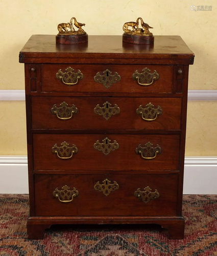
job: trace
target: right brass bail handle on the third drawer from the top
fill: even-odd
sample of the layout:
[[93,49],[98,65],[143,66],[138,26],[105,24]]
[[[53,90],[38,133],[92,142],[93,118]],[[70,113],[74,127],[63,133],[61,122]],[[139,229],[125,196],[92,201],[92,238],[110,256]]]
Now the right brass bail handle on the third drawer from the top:
[[143,147],[141,144],[136,147],[136,153],[140,154],[143,159],[147,160],[154,159],[157,154],[161,153],[161,151],[162,150],[158,144],[156,147],[153,147],[151,142],[147,142]]

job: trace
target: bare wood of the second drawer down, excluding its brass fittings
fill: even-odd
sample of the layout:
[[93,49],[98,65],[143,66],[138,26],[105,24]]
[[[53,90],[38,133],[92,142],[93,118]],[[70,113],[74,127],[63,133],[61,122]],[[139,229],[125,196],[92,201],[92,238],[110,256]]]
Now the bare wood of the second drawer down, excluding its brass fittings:
[[[62,102],[73,104],[78,112],[68,120],[61,120],[51,113],[54,104]],[[94,113],[99,104],[109,102],[117,104],[120,113],[108,120]],[[33,129],[61,130],[179,130],[181,121],[181,98],[128,98],[128,97],[32,97]],[[146,108],[151,102],[155,108],[159,105],[162,115],[154,121],[142,120],[136,113],[139,105]]]

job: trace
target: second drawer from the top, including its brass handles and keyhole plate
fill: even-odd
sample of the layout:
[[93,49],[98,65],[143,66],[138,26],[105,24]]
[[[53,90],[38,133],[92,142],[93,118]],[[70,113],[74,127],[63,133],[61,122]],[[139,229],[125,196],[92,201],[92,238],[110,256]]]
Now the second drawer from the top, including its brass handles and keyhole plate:
[[32,120],[33,129],[178,130],[181,98],[32,97]]

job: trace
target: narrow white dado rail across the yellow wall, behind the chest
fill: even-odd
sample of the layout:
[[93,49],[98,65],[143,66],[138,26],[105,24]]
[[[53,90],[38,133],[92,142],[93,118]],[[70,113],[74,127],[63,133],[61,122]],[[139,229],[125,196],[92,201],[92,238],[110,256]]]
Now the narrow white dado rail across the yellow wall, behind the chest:
[[[25,100],[25,91],[0,90],[0,100]],[[189,90],[188,100],[217,100],[217,90]]]

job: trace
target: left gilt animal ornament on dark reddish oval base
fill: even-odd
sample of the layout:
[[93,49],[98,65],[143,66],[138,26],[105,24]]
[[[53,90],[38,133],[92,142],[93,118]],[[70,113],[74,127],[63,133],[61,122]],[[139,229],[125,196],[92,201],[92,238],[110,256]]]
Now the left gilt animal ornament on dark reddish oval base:
[[[56,36],[57,44],[80,44],[88,41],[88,35],[83,30],[84,23],[77,22],[75,17],[68,23],[60,23],[57,26],[59,33]],[[76,30],[78,28],[78,30]]]

